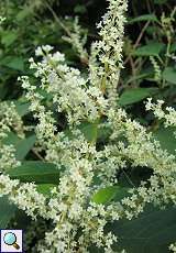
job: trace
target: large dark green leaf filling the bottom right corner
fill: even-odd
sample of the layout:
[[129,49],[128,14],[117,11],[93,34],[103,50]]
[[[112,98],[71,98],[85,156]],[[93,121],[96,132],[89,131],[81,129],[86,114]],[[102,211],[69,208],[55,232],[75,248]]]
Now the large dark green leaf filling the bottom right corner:
[[113,224],[118,235],[116,252],[125,249],[130,253],[166,253],[176,239],[176,209],[152,209],[138,219],[122,220]]

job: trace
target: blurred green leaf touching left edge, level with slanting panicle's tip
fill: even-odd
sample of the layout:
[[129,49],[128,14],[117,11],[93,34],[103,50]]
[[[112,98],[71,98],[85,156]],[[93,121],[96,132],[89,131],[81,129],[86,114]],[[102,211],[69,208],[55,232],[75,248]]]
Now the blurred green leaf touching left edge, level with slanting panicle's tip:
[[0,64],[15,70],[24,70],[24,59],[22,57],[7,56],[0,61]]

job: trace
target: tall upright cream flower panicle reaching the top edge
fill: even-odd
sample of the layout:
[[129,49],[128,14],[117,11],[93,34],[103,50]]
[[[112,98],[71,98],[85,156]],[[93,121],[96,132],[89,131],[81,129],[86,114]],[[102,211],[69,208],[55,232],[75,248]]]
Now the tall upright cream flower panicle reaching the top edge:
[[[127,0],[109,0],[108,12],[98,24],[100,41],[92,45],[89,68],[90,80],[105,91],[108,90],[110,105],[117,105],[117,86],[122,68],[122,48],[124,34],[124,13]],[[98,59],[98,63],[96,61]]]

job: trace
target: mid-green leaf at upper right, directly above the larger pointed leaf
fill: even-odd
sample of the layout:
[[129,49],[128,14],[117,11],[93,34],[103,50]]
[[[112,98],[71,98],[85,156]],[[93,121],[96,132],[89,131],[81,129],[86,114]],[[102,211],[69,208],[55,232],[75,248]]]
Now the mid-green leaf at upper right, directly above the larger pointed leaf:
[[141,46],[133,52],[135,56],[157,56],[164,48],[163,43],[150,42],[147,45]]

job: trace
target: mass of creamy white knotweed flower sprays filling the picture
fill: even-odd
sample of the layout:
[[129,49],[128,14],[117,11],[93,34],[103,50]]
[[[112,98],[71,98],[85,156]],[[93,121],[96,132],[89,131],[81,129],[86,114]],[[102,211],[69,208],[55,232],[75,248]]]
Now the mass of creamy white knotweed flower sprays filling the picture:
[[[41,193],[35,182],[11,178],[21,162],[15,158],[14,146],[3,144],[3,140],[12,130],[24,139],[28,127],[13,103],[2,102],[0,107],[0,196],[7,195],[34,220],[29,233],[41,218],[50,223],[33,252],[119,252],[116,245],[120,235],[109,224],[138,217],[148,204],[176,205],[175,156],[162,150],[152,133],[118,106],[128,3],[108,2],[108,11],[98,24],[100,40],[91,45],[89,56],[78,32],[69,38],[78,43],[80,55],[87,56],[87,76],[69,66],[64,54],[53,53],[54,48],[45,45],[35,52],[38,61],[30,59],[37,85],[28,76],[19,78],[33,116],[37,157],[59,172],[47,194]],[[166,128],[176,125],[175,110],[165,111],[163,103],[148,100],[146,110],[164,120]],[[65,124],[59,122],[61,117]],[[98,145],[105,129],[109,133],[107,141]],[[117,174],[129,163],[131,167],[148,167],[153,170],[151,177],[132,187],[121,200],[110,196],[110,201],[105,201],[103,194],[116,190]]]

